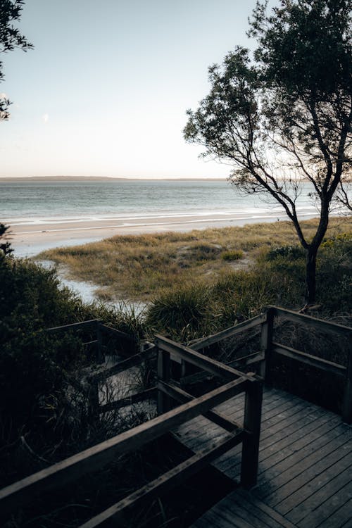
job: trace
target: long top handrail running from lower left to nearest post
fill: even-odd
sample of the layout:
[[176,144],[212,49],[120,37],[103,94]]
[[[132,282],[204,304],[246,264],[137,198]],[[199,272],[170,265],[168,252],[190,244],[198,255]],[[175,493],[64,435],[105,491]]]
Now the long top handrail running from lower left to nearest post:
[[237,393],[239,385],[246,386],[248,379],[240,377],[230,383],[222,385],[196,400],[184,403],[174,410],[149,420],[130,431],[101,442],[77,455],[66,458],[46,469],[22,479],[0,490],[0,506],[4,513],[12,508],[20,508],[29,503],[35,494],[58,488],[68,482],[94,472],[107,465],[115,455],[128,453],[143,446],[147,442],[157,439],[173,427],[187,422],[199,414],[206,413],[211,408]]

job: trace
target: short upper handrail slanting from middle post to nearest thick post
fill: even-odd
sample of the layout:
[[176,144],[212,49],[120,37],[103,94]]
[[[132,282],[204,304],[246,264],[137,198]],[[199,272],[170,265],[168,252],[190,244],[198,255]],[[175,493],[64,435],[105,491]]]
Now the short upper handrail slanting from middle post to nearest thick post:
[[227,365],[220,363],[220,361],[216,361],[214,359],[208,358],[207,356],[203,356],[203,354],[196,352],[187,346],[175,343],[174,341],[171,341],[171,339],[167,339],[166,337],[163,337],[158,334],[156,335],[156,346],[158,346],[158,348],[161,348],[165,352],[177,354],[178,356],[180,356],[180,358],[187,360],[192,365],[196,365],[196,367],[199,367],[203,370],[207,370],[215,376],[222,377],[225,379],[234,379],[234,377],[245,377],[250,381],[253,380],[253,375],[251,374],[247,375],[244,374],[244,372],[241,372],[240,370],[236,370],[232,367],[227,367]]

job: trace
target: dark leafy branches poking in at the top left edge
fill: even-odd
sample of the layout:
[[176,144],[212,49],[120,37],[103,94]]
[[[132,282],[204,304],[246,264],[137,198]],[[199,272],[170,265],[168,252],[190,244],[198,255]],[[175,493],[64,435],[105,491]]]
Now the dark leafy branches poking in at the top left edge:
[[[23,0],[0,0],[0,53],[21,48],[23,51],[32,49],[32,44],[13,26],[13,21],[19,20],[23,8]],[[4,80],[3,64],[0,61],[0,82]],[[8,119],[8,106],[11,102],[4,94],[0,96],[0,120]]]

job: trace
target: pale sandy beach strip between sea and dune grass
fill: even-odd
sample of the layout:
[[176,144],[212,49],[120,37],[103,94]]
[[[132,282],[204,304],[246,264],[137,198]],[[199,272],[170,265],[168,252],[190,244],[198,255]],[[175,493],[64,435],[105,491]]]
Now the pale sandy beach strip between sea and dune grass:
[[32,257],[44,251],[60,246],[75,246],[87,244],[118,234],[141,234],[168,231],[190,231],[206,229],[207,227],[227,227],[245,225],[253,222],[274,222],[286,220],[285,215],[253,217],[238,213],[211,215],[165,215],[164,217],[149,216],[145,218],[128,219],[100,219],[100,220],[67,220],[55,223],[37,223],[34,225],[11,226],[11,246],[15,256]]

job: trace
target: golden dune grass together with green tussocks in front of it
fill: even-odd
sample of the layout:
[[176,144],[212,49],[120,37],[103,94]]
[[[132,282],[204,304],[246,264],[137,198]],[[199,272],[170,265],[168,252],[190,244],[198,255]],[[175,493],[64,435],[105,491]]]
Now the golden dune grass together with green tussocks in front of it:
[[[302,223],[308,239],[316,225],[317,220]],[[317,301],[327,315],[348,310],[345,302],[337,301],[332,285],[339,274],[345,277],[339,289],[343,301],[350,233],[351,218],[332,218],[318,253]],[[96,284],[102,301],[149,303],[146,327],[171,332],[177,339],[233,325],[266,304],[304,304],[305,255],[290,222],[117,236],[49,250],[39,258],[64,265],[70,277]]]

